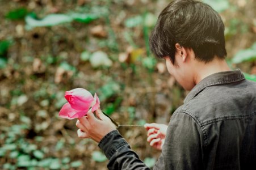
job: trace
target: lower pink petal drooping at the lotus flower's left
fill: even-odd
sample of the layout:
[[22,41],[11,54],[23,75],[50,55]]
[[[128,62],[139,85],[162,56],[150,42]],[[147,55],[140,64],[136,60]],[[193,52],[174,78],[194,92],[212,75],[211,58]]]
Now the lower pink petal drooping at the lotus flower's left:
[[58,116],[62,118],[68,118],[69,120],[74,118],[80,118],[87,114],[88,110],[85,111],[77,111],[71,107],[69,103],[66,103],[63,105],[63,107],[60,110],[60,113],[58,113]]

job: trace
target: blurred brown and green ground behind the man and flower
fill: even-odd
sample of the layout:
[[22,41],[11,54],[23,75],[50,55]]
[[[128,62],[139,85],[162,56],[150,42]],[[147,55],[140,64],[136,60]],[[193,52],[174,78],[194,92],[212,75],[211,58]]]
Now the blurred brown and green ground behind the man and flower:
[[[82,87],[120,124],[167,124],[188,94],[149,50],[166,0],[0,0],[0,169],[107,169],[76,120],[58,117]],[[255,0],[205,0],[225,23],[227,61],[256,81]],[[119,128],[152,167],[144,128]]]

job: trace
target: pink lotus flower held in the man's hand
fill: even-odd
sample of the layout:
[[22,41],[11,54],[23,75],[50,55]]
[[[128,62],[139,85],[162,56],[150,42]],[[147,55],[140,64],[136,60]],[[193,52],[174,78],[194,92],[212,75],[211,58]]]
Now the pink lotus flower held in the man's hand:
[[90,108],[92,112],[96,111],[100,104],[96,93],[93,97],[89,91],[83,88],[66,91],[65,98],[68,100],[68,103],[63,105],[58,116],[70,120],[85,116]]

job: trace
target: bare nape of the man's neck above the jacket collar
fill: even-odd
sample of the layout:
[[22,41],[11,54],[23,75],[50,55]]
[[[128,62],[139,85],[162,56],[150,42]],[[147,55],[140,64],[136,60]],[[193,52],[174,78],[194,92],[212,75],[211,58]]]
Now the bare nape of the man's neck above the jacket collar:
[[230,71],[225,59],[215,58],[209,63],[197,62],[195,67],[194,82],[195,84],[198,84],[205,77],[222,71]]

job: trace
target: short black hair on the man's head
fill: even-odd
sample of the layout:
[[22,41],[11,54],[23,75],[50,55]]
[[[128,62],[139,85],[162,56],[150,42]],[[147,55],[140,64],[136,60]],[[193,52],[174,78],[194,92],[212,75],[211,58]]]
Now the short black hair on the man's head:
[[150,49],[159,58],[175,62],[175,44],[194,50],[205,63],[226,56],[224,23],[209,5],[194,0],[171,2],[160,14],[150,36]]

